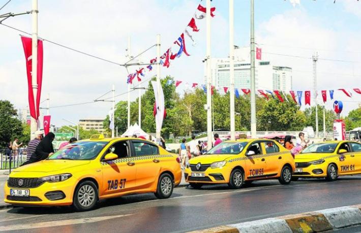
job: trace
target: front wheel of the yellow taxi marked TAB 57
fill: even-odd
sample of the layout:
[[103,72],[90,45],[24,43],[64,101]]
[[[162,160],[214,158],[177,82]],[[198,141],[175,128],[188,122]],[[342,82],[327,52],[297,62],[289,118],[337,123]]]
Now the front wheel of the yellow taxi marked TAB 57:
[[98,202],[98,188],[93,181],[83,181],[75,189],[73,207],[76,211],[93,209]]

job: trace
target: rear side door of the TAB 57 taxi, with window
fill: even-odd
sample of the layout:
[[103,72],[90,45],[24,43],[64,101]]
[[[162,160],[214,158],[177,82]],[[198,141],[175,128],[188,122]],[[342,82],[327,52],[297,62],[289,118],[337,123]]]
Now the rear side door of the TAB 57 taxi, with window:
[[136,158],[136,186],[138,189],[149,188],[158,182],[162,166],[157,145],[142,140],[132,140],[132,148]]

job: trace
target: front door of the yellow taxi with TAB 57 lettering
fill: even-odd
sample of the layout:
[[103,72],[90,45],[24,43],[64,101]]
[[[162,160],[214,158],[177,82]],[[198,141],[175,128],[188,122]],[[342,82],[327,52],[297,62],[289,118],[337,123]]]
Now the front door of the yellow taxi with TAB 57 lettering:
[[100,190],[100,195],[133,190],[135,187],[136,167],[130,156],[129,141],[123,140],[113,143],[103,157],[110,152],[118,155],[118,158],[112,161],[101,160],[103,190]]

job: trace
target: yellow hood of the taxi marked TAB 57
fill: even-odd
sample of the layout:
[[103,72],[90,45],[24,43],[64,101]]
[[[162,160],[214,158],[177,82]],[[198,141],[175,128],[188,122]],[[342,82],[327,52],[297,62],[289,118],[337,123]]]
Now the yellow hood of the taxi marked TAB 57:
[[64,160],[47,159],[39,162],[27,164],[15,169],[13,172],[56,172],[66,170],[90,163],[89,160]]

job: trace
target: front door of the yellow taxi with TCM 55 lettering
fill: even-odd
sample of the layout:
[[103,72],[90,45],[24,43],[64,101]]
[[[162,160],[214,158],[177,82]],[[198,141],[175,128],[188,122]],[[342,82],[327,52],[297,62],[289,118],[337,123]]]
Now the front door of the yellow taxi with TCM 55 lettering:
[[[250,151],[253,151],[255,154],[251,155]],[[254,142],[248,146],[246,151],[246,169],[245,169],[245,178],[246,179],[257,179],[265,176],[266,171],[266,161],[262,153],[262,147],[259,142]]]

